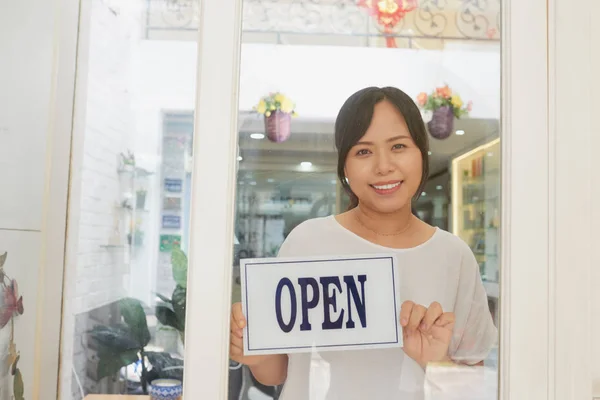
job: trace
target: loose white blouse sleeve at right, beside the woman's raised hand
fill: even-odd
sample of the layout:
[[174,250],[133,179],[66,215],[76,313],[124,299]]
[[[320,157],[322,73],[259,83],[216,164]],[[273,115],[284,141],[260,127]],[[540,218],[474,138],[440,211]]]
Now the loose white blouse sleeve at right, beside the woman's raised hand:
[[485,360],[498,341],[498,330],[492,320],[479,265],[466,245],[454,313],[456,323],[450,343],[450,357],[468,365]]

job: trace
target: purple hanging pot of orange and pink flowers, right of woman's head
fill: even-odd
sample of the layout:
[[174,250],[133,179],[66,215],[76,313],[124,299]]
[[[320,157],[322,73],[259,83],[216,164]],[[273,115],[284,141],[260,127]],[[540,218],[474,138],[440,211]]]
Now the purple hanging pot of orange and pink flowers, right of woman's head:
[[454,130],[454,118],[468,115],[473,108],[472,102],[464,106],[458,93],[452,93],[448,85],[436,88],[429,95],[419,93],[417,104],[422,110],[432,113],[427,128],[429,134],[436,139],[448,138]]

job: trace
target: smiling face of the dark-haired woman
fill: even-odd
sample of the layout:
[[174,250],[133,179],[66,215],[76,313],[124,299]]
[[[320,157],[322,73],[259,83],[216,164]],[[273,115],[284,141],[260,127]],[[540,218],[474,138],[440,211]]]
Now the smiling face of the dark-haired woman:
[[422,155],[388,101],[375,105],[371,125],[348,153],[345,173],[361,206],[381,213],[410,207],[421,184]]

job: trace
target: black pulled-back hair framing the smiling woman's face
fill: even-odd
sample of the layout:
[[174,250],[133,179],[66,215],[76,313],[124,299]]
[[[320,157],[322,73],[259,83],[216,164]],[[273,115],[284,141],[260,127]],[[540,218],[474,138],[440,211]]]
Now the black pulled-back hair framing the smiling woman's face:
[[358,205],[358,197],[350,189],[350,185],[346,182],[346,174],[344,172],[346,159],[350,149],[360,141],[365,135],[371,120],[373,118],[373,110],[377,103],[387,100],[402,114],[410,136],[416,146],[421,151],[423,160],[423,172],[421,175],[421,184],[415,193],[415,199],[419,198],[423,187],[429,176],[429,138],[425,123],[421,117],[419,107],[415,102],[404,93],[402,90],[395,87],[368,87],[350,96],[338,113],[335,120],[335,147],[338,152],[338,178],[342,183],[342,187],[350,196],[350,206],[352,209]]

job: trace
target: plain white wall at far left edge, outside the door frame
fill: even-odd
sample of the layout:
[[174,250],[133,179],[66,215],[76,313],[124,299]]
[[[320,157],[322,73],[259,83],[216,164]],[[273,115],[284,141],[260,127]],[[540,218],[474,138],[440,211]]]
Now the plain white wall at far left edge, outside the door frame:
[[[37,397],[40,379],[36,340],[45,299],[43,217],[55,21],[51,1],[0,2],[0,255],[8,253],[4,271],[18,282],[23,296],[25,312],[14,319],[14,338],[26,398]],[[4,366],[10,329],[9,323],[0,330],[2,400],[9,399],[13,389],[10,369]],[[47,371],[53,372],[55,368]]]

